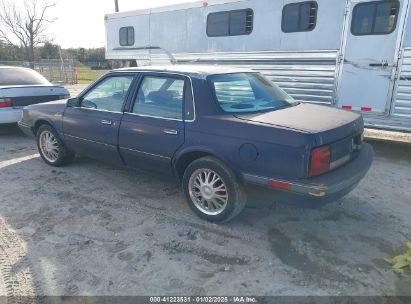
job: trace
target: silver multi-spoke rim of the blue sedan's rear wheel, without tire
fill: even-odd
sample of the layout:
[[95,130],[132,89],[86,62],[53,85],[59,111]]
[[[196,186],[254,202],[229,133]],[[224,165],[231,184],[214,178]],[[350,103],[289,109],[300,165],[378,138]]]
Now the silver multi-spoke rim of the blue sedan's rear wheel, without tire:
[[213,170],[198,169],[191,174],[189,183],[191,201],[202,213],[218,215],[228,203],[227,186]]

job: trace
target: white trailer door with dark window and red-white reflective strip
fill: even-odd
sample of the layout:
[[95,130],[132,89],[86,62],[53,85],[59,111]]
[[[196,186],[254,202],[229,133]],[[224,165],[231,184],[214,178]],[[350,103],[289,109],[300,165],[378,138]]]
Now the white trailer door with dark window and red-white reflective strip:
[[338,106],[388,113],[408,0],[350,2]]

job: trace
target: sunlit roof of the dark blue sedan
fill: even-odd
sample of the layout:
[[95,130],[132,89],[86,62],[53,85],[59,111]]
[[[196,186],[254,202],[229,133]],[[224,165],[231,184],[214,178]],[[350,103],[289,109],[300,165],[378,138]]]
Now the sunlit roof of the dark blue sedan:
[[[130,67],[112,70],[111,72],[162,72],[162,73],[174,73],[183,74],[194,78],[205,79],[209,75],[217,74],[232,74],[232,73],[246,73],[253,72],[250,69],[242,69],[231,66],[221,65],[167,65],[167,66],[143,66],[143,67]],[[255,71],[254,71],[255,72]]]

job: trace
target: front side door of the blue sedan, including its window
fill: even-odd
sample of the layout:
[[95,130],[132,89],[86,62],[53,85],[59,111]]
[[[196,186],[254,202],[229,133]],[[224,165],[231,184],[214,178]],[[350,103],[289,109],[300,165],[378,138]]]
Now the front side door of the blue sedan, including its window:
[[70,149],[84,156],[122,162],[118,130],[133,80],[133,74],[108,75],[82,94],[77,105],[67,107],[63,134]]

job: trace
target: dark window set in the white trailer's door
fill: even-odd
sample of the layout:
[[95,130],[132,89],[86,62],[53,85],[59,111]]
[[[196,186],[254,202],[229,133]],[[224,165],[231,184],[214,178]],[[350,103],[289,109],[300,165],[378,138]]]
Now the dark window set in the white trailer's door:
[[384,35],[395,30],[400,3],[396,0],[357,4],[353,10],[353,35]]

